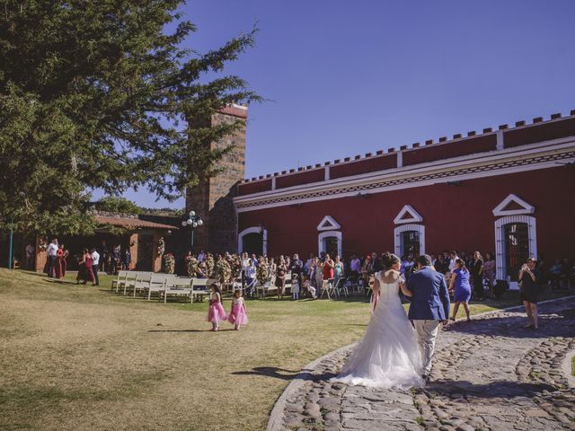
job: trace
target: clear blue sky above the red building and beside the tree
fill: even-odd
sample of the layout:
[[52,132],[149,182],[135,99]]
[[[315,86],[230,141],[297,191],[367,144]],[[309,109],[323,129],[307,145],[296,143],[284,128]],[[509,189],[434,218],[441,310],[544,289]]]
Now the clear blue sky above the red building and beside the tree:
[[200,51],[261,30],[227,69],[271,100],[250,107],[248,178],[575,109],[572,0],[190,0],[184,13]]

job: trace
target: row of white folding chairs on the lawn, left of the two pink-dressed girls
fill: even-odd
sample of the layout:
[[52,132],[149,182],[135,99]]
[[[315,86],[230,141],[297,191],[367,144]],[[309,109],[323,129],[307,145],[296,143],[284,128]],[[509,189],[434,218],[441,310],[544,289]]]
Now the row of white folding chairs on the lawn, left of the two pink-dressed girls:
[[203,301],[209,295],[208,286],[215,280],[205,278],[178,277],[173,274],[159,274],[149,271],[118,271],[118,277],[111,282],[111,290],[123,295],[141,295],[149,301],[152,295],[167,302],[168,296],[186,297],[193,303],[194,297]]

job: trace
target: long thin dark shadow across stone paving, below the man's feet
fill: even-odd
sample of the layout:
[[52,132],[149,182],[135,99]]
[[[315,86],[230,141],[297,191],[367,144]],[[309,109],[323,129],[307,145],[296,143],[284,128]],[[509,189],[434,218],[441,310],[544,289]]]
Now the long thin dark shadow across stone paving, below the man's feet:
[[471,383],[467,381],[437,380],[429,382],[425,391],[430,396],[446,396],[451,398],[534,398],[543,394],[544,391],[557,391],[557,388],[545,383],[518,383],[497,381],[490,383]]

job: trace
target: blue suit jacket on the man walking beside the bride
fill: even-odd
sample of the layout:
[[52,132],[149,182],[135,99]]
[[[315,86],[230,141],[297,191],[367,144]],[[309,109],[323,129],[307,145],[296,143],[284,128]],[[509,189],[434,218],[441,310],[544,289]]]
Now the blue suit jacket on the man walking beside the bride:
[[449,294],[446,279],[429,267],[411,274],[407,288],[411,291],[410,321],[447,321]]

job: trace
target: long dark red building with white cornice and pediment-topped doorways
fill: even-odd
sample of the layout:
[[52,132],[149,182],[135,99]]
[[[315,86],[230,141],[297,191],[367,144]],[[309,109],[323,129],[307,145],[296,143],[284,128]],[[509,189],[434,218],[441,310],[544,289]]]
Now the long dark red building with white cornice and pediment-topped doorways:
[[575,257],[575,110],[244,180],[238,251]]

